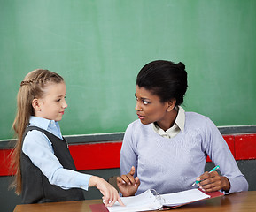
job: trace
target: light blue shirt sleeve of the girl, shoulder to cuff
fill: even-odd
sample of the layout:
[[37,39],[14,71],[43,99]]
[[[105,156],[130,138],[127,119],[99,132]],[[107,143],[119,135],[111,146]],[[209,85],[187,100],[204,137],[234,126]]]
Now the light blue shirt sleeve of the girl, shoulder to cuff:
[[42,132],[29,131],[24,139],[22,151],[49,179],[50,184],[63,189],[82,188],[88,190],[91,175],[64,169],[54,155],[50,140]]

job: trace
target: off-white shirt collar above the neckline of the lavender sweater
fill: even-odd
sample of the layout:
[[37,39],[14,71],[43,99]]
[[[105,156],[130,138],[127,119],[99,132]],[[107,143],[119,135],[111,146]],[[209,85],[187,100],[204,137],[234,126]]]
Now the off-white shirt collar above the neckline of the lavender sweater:
[[158,133],[160,136],[170,139],[174,138],[180,131],[184,131],[184,125],[185,125],[185,110],[182,109],[181,106],[178,106],[178,114],[175,119],[175,124],[171,126],[167,131],[164,131],[159,127],[159,125],[156,125],[153,123],[153,129],[156,133]]

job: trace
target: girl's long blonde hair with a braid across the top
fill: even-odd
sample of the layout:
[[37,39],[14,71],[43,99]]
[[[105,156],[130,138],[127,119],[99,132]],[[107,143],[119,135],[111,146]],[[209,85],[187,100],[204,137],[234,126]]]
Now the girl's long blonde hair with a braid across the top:
[[32,101],[35,98],[43,98],[44,87],[49,83],[60,83],[64,79],[58,73],[49,70],[36,69],[27,73],[27,76],[20,83],[17,95],[17,114],[12,124],[12,128],[17,136],[17,142],[12,151],[12,168],[15,170],[15,178],[12,187],[18,195],[22,191],[20,173],[20,154],[22,148],[22,136],[29,124],[29,117],[34,116]]

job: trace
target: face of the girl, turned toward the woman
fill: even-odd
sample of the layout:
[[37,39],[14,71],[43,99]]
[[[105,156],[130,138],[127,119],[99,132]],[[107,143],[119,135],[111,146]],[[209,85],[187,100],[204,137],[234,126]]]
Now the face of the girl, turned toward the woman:
[[35,116],[60,121],[67,107],[65,97],[64,82],[47,85],[44,88],[43,98],[38,99],[39,110],[36,111]]

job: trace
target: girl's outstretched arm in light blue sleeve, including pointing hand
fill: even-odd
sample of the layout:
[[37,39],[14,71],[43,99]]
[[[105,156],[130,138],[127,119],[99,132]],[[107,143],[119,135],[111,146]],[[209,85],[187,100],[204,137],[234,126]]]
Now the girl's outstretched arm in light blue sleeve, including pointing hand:
[[115,201],[123,205],[117,190],[105,179],[64,169],[54,155],[51,142],[44,133],[36,130],[28,132],[22,151],[49,179],[50,184],[63,189],[82,188],[84,190],[88,190],[89,186],[96,186],[104,195],[105,206],[112,206]]

